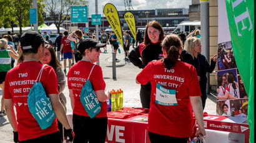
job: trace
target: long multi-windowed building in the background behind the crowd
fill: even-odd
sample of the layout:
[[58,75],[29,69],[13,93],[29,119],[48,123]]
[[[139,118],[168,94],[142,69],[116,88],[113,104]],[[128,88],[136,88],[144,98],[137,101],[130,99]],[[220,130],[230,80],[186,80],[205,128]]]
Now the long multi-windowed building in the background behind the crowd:
[[[122,29],[128,29],[126,21],[124,20],[124,14],[127,11],[118,11],[119,19]],[[148,9],[148,10],[133,10],[130,11],[134,14],[136,27],[145,27],[149,21],[157,21],[162,27],[174,27],[182,21],[189,21],[189,9],[185,8],[173,8],[173,9]],[[53,21],[45,21],[47,25]],[[70,19],[67,19],[61,27],[69,29],[71,26],[77,26],[79,28],[89,27],[91,30],[95,30],[95,25],[91,25],[91,17],[88,18],[86,23],[71,23]],[[99,30],[109,29],[110,25],[107,22],[105,16],[102,16],[102,24],[99,25]]]

